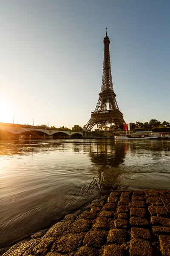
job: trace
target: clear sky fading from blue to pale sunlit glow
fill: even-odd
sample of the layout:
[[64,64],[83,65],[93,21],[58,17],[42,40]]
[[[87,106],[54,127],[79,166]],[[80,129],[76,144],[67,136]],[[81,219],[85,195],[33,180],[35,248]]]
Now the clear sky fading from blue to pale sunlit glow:
[[170,122],[169,0],[1,0],[0,122],[86,124],[105,27],[125,122]]

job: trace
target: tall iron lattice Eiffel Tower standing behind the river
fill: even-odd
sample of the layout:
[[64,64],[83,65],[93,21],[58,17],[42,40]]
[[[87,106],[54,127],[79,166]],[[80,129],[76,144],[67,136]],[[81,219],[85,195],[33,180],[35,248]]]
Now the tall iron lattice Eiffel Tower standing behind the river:
[[119,107],[116,102],[116,94],[113,91],[113,83],[111,76],[111,61],[109,53],[110,40],[107,35],[103,40],[105,45],[104,49],[104,62],[103,62],[103,77],[102,88],[99,93],[99,100],[97,102],[94,112],[91,112],[91,119],[85,125],[86,131],[91,131],[94,125],[97,125],[98,130],[104,130],[108,124],[115,124],[116,126],[123,126],[125,121],[123,114],[119,111]]

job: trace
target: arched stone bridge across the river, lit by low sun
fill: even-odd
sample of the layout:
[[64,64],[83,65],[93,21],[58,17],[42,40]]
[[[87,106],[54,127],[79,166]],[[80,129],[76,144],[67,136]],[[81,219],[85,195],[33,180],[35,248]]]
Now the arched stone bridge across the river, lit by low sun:
[[81,131],[60,130],[32,125],[18,125],[0,122],[0,139],[75,139],[83,137]]

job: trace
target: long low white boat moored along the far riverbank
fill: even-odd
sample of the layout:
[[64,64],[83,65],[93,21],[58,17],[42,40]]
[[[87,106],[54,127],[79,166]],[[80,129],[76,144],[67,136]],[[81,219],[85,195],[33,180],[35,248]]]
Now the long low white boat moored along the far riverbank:
[[159,136],[154,136],[152,134],[120,134],[115,135],[116,140],[158,140]]

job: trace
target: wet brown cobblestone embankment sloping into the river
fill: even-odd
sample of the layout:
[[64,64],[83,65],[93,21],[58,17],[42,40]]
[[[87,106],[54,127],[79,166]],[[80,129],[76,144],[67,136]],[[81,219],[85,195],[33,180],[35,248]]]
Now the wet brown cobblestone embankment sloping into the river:
[[170,191],[117,190],[3,256],[170,256]]

